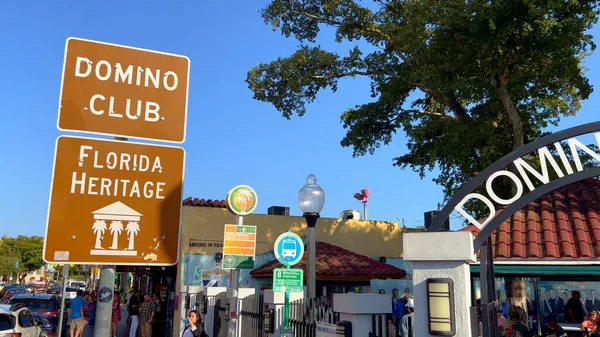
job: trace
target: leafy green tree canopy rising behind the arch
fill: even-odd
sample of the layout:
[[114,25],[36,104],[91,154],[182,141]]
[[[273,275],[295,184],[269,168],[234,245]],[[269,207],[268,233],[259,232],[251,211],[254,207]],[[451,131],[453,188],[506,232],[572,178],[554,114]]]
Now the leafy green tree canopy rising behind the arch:
[[[592,87],[582,60],[598,1],[273,0],[265,23],[301,42],[291,56],[259,64],[246,82],[285,118],[338,81],[365,76],[373,101],[341,114],[341,145],[374,153],[399,130],[408,152],[394,165],[434,181],[445,197],[491,163],[574,115]],[[340,55],[315,45],[321,28]],[[416,94],[414,94],[416,93]],[[411,95],[413,94],[413,95]],[[416,97],[416,98],[414,98]],[[414,98],[414,99],[413,99]]]

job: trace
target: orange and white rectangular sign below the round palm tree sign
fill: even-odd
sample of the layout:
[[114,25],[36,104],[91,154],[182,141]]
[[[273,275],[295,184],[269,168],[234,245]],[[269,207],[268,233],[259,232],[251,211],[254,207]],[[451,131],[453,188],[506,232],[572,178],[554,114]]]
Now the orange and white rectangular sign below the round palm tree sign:
[[253,269],[256,226],[225,225],[223,269]]

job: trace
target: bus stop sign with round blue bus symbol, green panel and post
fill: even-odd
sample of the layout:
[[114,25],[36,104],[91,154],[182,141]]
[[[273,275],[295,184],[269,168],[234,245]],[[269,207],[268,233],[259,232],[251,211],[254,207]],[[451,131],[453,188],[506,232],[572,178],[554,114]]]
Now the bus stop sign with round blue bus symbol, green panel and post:
[[279,328],[281,337],[293,337],[294,327],[290,326],[290,292],[304,290],[304,271],[291,267],[304,256],[304,242],[295,233],[288,231],[275,240],[275,258],[285,269],[273,270],[273,291],[284,293],[283,326]]

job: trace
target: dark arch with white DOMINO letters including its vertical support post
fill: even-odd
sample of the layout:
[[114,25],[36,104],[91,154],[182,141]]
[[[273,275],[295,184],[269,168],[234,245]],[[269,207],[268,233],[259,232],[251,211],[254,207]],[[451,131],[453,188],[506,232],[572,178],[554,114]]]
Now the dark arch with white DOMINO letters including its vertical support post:
[[[600,148],[600,122],[593,122],[550,134],[509,153],[465,184],[436,215],[428,228],[429,231],[438,231],[450,213],[456,210],[480,230],[473,241],[473,248],[475,252],[484,248],[480,252],[484,337],[495,337],[498,334],[492,233],[521,208],[545,194],[580,180],[600,176],[600,153],[577,139],[589,134],[593,134],[596,145]],[[553,155],[553,152],[556,155]],[[581,153],[587,154],[597,165],[585,168],[580,157]],[[535,160],[536,154],[539,171],[524,159],[526,156],[531,156],[528,159]],[[516,168],[518,175],[508,170],[510,165]],[[551,179],[554,176],[551,173],[558,178]],[[494,191],[494,180],[499,177],[510,179],[516,187],[510,199],[504,199]],[[475,192],[484,184],[485,193]],[[469,201],[476,201],[487,207],[489,213],[482,222],[465,211],[464,205]],[[496,205],[500,206],[498,211]],[[539,301],[537,292],[534,296],[537,303]]]

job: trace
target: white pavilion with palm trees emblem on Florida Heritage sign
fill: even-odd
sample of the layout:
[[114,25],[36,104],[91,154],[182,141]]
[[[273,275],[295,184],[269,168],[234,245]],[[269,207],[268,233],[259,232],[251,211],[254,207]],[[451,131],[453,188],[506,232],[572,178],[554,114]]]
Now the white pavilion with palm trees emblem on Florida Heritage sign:
[[[120,201],[95,210],[92,214],[95,220],[92,231],[96,235],[96,244],[90,251],[90,255],[137,256],[135,237],[140,232],[139,222],[142,214]],[[127,225],[124,226],[124,222]],[[107,230],[112,236],[108,249],[102,246],[106,241],[104,235],[107,234]],[[120,249],[119,236],[122,233],[127,235],[128,246]]]

